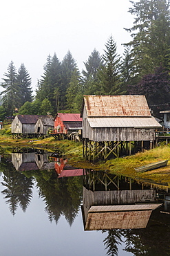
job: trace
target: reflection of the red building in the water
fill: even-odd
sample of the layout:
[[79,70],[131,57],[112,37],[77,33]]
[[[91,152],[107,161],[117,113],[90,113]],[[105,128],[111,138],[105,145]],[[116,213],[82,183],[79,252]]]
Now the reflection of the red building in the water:
[[67,158],[54,158],[56,174],[59,178],[84,175],[83,169],[75,169],[67,163]]

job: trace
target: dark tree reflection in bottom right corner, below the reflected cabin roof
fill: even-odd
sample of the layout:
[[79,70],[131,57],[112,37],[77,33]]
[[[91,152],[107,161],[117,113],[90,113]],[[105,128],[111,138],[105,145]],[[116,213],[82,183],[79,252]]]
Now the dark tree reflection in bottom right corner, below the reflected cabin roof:
[[[118,255],[118,245],[125,241],[125,250],[132,255],[170,255],[170,216],[153,211],[147,228],[103,230],[108,235],[103,241],[107,255]],[[123,240],[122,240],[123,239]]]

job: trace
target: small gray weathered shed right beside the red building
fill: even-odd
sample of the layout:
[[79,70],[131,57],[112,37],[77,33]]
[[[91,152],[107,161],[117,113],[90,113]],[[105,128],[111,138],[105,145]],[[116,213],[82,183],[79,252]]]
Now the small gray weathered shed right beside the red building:
[[54,129],[54,118],[52,116],[40,116],[35,124],[35,134],[46,136]]

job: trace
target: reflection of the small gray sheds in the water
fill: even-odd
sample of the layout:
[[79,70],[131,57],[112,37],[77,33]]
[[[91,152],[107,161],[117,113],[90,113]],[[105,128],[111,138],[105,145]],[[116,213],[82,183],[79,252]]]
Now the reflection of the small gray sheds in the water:
[[12,164],[17,171],[30,170],[49,170],[54,169],[54,162],[49,162],[48,157],[51,152],[39,154],[37,152],[30,153],[12,153]]

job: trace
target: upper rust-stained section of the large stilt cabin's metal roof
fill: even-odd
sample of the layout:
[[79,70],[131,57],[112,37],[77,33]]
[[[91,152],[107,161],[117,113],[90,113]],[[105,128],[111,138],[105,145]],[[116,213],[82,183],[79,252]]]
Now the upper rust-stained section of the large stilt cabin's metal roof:
[[85,95],[87,116],[151,116],[144,95]]

